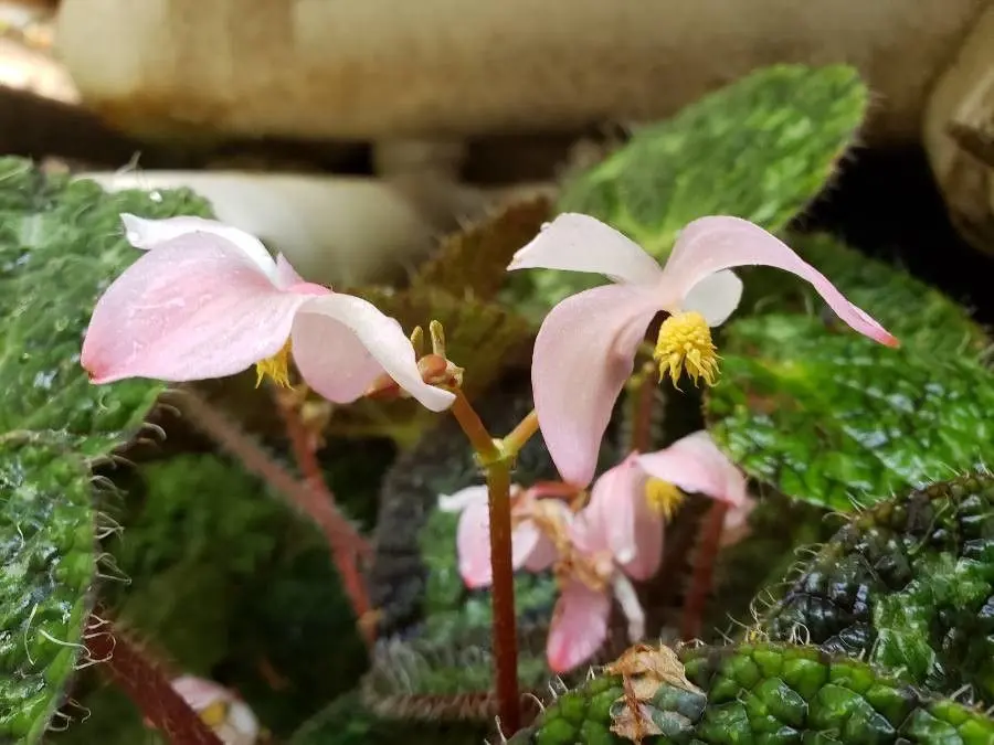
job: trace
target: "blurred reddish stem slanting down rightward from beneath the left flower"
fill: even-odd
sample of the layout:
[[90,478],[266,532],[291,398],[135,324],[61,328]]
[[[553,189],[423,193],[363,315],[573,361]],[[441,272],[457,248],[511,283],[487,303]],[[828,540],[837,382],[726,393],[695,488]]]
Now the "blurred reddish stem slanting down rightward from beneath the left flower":
[[[329,492],[326,491],[326,488],[318,490],[309,481],[302,482],[273,459],[241,427],[193,391],[186,389],[179,403],[190,422],[209,435],[222,449],[237,458],[247,471],[255,473],[286,497],[290,504],[320,528],[341,574],[356,618],[360,621],[368,618],[369,596],[357,566],[357,557],[369,556],[371,547],[335,502],[328,498]],[[372,628],[371,624],[360,624],[360,630],[366,639],[370,638]]]

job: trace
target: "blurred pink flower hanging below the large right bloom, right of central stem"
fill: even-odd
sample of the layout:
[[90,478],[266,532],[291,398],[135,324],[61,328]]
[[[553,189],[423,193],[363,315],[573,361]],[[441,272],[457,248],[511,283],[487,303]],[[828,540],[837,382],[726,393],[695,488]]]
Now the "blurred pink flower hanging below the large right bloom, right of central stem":
[[633,454],[605,471],[594,482],[590,504],[569,526],[580,557],[559,567],[562,592],[547,645],[553,671],[575,668],[604,643],[612,595],[628,621],[630,640],[644,635],[642,608],[627,577],[648,579],[663,557],[663,515],[651,504],[648,488],[653,479],[727,502],[733,522],[744,519],[751,502],[744,477],[706,432],[657,453]]

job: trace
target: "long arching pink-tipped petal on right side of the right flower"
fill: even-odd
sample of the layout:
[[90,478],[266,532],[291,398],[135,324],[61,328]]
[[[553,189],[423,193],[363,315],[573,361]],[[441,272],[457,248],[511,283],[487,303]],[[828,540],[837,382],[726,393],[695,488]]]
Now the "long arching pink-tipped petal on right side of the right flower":
[[686,297],[708,275],[736,266],[772,266],[811,283],[825,302],[855,331],[897,347],[882,326],[845,296],[817,269],[806,264],[786,244],[741,217],[700,217],[677,237],[665,268],[664,283],[673,294]]

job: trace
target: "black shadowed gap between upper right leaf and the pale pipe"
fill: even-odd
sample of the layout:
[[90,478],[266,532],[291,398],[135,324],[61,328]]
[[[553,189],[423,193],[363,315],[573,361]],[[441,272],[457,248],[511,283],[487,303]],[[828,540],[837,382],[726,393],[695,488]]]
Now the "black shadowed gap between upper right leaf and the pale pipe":
[[856,151],[797,226],[896,262],[974,310],[981,323],[994,323],[994,257],[953,230],[921,148]]

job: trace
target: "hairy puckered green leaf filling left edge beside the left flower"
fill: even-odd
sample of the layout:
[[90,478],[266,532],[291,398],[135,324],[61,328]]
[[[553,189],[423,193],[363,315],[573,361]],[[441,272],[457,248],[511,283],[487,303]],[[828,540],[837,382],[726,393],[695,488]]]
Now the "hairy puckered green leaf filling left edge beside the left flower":
[[141,427],[161,385],[91,385],[89,316],[140,256],[119,214],[207,214],[190,192],[106,194],[89,181],[0,159],[0,741],[34,743],[83,647],[97,545],[89,457]]

